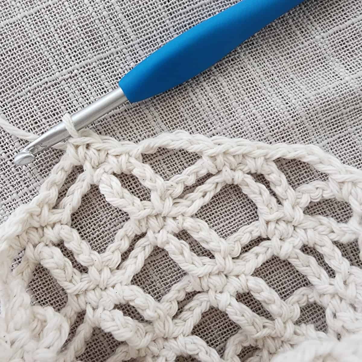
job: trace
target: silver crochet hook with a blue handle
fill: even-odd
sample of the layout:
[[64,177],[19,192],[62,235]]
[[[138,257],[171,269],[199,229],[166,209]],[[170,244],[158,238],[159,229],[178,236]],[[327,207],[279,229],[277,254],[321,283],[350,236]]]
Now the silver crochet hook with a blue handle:
[[[149,55],[129,71],[118,88],[71,116],[80,130],[112,109],[139,102],[184,83],[211,67],[264,26],[303,0],[243,0],[195,25]],[[25,165],[37,153],[67,139],[63,122],[29,143],[15,158]]]

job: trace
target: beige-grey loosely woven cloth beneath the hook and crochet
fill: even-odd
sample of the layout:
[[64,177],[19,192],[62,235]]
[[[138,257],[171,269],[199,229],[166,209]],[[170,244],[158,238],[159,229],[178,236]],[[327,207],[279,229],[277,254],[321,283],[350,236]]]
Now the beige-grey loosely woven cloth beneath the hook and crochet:
[[[73,113],[113,89],[125,72],[157,47],[236,2],[0,0],[0,114],[40,134],[59,122],[64,111]],[[132,141],[183,129],[266,143],[313,143],[361,169],[361,5],[361,0],[307,0],[202,75],[152,100],[115,110],[94,129]],[[0,220],[4,221],[37,194],[62,152],[45,152],[34,164],[17,168],[12,157],[26,143],[0,132]],[[144,161],[167,179],[195,159],[181,151],[158,151]],[[293,188],[323,177],[300,161],[280,161],[279,167]],[[79,171],[71,174],[69,185]],[[122,175],[121,180],[139,198],[149,197],[133,176]],[[258,181],[268,184],[262,177]],[[327,200],[308,206],[306,213],[346,222],[351,211],[342,202]],[[240,189],[228,186],[199,217],[226,237],[253,221],[256,207]],[[126,220],[127,214],[111,207],[93,187],[73,215],[72,226],[102,252]],[[187,233],[180,237],[197,247]],[[352,265],[361,267],[357,243],[340,249]],[[333,277],[321,254],[308,248],[304,252]],[[282,299],[308,285],[303,275],[277,258],[265,262],[254,275]],[[167,253],[159,251],[148,258],[133,282],[160,300],[181,277]],[[60,310],[66,302],[62,288],[42,267],[36,269],[30,287],[34,303]],[[243,303],[259,315],[266,314],[252,297]],[[131,307],[125,308],[125,313],[139,318]],[[299,322],[314,323],[325,331],[323,313],[316,304],[306,306]],[[225,313],[211,309],[193,333],[222,355],[235,331]],[[80,359],[103,361],[117,345],[108,334],[93,332]],[[240,357],[249,352],[252,349],[243,350]]]

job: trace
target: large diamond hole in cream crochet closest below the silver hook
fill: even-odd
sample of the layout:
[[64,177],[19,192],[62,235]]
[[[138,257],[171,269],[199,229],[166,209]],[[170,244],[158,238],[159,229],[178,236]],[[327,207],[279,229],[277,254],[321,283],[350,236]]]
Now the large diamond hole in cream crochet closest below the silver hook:
[[102,253],[128,219],[125,211],[110,205],[98,187],[93,185],[83,196],[79,209],[73,213],[72,227],[93,250]]

